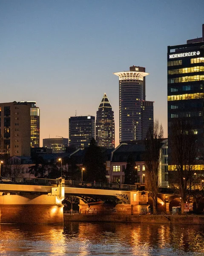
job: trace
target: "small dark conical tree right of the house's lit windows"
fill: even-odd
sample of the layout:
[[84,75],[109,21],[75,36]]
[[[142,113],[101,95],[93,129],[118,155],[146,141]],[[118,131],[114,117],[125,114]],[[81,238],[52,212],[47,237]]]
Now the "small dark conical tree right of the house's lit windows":
[[135,185],[138,182],[138,173],[137,169],[135,168],[135,160],[132,155],[127,158],[127,164],[125,169],[125,184]]

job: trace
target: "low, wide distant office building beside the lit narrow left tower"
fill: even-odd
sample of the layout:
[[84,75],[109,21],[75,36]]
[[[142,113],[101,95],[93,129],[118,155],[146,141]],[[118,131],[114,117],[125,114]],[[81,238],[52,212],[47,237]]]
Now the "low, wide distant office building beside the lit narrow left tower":
[[52,153],[63,153],[68,147],[68,139],[59,137],[59,138],[49,138],[43,139],[43,148],[51,148]]

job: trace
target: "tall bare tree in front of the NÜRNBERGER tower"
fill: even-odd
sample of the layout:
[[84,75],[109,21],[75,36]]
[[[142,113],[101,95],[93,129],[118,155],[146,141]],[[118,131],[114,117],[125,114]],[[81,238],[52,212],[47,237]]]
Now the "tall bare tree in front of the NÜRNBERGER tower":
[[170,156],[173,179],[181,195],[181,212],[187,201],[187,185],[191,190],[195,163],[198,156],[196,138],[192,125],[185,120],[174,120],[171,124]]

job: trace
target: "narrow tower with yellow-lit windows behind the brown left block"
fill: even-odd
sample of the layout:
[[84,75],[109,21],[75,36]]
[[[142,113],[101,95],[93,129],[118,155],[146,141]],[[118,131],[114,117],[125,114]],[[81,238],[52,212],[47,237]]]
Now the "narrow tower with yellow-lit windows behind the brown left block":
[[36,102],[20,102],[30,106],[31,115],[31,148],[40,147],[40,108],[36,107]]

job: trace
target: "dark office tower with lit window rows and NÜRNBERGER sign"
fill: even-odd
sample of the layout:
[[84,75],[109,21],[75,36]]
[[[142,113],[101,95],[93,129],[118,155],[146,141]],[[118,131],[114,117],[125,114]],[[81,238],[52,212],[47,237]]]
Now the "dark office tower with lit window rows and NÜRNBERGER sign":
[[192,125],[199,157],[204,157],[204,25],[202,38],[168,46],[168,137],[171,162],[171,124],[185,120]]

